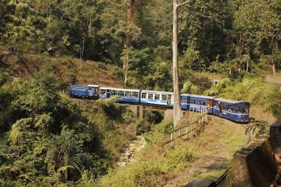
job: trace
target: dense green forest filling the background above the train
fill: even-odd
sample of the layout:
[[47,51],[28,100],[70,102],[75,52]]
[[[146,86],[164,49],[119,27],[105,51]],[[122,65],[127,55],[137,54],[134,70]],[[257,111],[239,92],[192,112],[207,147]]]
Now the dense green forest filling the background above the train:
[[[194,0],[180,6],[180,69],[275,74],[280,11],[278,0]],[[170,88],[161,82],[171,79],[171,0],[3,0],[0,20],[4,46],[46,55],[51,47],[54,55],[127,65],[129,86],[143,79],[145,87]]]

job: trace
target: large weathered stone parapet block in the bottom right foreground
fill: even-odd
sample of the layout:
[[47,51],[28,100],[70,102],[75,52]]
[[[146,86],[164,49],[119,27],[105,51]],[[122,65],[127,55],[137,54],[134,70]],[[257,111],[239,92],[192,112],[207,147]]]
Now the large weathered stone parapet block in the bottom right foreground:
[[269,136],[259,136],[236,151],[232,160],[232,187],[270,186],[278,172]]

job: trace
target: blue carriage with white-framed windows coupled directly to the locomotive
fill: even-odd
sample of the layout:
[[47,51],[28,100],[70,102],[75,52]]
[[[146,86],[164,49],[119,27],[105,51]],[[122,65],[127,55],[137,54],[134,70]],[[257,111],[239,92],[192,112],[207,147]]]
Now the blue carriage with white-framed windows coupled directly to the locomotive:
[[101,87],[99,98],[105,99],[119,96],[118,102],[120,103],[140,103],[140,91],[138,89]]

